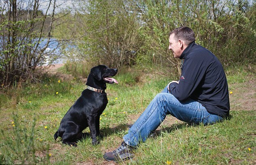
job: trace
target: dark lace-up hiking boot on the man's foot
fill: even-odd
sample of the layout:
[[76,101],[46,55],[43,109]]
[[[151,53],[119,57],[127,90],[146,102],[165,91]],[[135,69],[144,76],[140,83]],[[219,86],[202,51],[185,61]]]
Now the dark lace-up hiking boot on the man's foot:
[[123,161],[133,157],[133,154],[131,153],[132,150],[134,150],[133,146],[129,146],[125,142],[122,142],[121,146],[117,149],[112,152],[106,152],[103,158],[107,161]]

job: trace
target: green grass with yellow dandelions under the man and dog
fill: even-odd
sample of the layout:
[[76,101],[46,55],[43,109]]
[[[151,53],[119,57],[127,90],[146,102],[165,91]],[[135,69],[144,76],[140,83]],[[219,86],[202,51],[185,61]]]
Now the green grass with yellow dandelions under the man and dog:
[[[230,96],[233,100],[248,91],[240,87],[255,80],[254,73],[241,67],[227,69],[226,73],[229,88],[234,92]],[[50,77],[38,84],[2,88],[0,164],[107,164],[103,154],[120,145],[129,124],[174,78],[126,69],[115,79],[118,85],[107,84],[109,104],[101,115],[104,135],[101,143],[92,146],[91,139],[85,138],[78,142],[77,148],[63,145],[60,138],[55,141],[53,135],[69,107],[86,88],[85,84],[78,80],[58,82],[58,77]],[[134,159],[120,164],[167,164],[167,161],[170,164],[255,164],[255,108],[244,111],[231,104],[230,114],[229,120],[208,126],[183,122],[163,124],[155,137],[140,144]]]

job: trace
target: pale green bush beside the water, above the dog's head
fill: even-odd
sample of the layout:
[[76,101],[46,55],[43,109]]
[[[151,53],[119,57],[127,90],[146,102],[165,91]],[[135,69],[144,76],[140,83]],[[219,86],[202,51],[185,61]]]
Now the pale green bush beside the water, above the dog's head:
[[[139,33],[139,22],[132,1],[89,0],[79,2],[79,8],[69,19],[80,20],[76,25],[68,23],[60,27],[65,37],[75,36],[74,44],[79,55],[95,64],[121,68],[134,65],[144,41]],[[69,20],[70,21],[70,20]],[[78,29],[77,33],[73,33]],[[82,31],[81,31],[82,29]],[[58,36],[63,32],[56,32]]]

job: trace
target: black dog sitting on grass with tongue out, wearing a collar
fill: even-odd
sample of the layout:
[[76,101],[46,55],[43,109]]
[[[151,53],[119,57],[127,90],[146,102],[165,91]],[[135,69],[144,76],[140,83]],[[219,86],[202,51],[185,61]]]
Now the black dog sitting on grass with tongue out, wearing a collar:
[[110,69],[105,65],[93,67],[88,75],[82,95],[67,111],[61,120],[60,127],[54,135],[56,140],[59,136],[62,143],[77,146],[77,140],[84,137],[82,131],[89,126],[92,144],[98,144],[97,136],[100,135],[100,115],[107,106],[106,83],[117,83],[111,76],[116,75],[117,69]]

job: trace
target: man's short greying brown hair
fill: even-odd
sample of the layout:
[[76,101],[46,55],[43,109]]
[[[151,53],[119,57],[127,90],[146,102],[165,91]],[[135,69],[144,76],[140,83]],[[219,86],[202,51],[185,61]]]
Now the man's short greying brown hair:
[[195,33],[192,29],[189,27],[178,27],[170,32],[169,37],[174,34],[174,38],[176,41],[183,40],[186,45],[191,44],[192,42],[195,42]]

